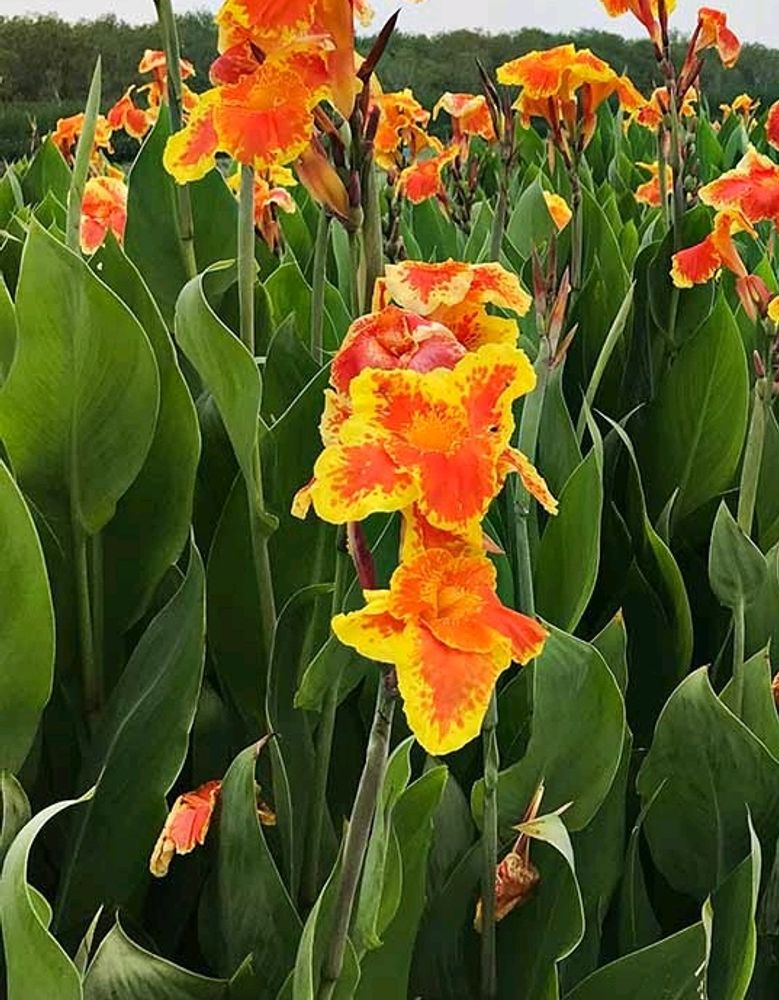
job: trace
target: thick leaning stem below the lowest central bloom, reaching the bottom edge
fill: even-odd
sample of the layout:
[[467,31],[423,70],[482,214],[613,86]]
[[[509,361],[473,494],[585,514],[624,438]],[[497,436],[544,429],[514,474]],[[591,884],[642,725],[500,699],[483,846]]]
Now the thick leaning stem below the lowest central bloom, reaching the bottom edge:
[[394,711],[395,692],[392,686],[387,683],[387,678],[384,677],[379,682],[376,709],[373,714],[373,724],[365,754],[365,765],[357,788],[349,829],[346,833],[338,898],[319,987],[319,1000],[331,1000],[343,970],[349,925],[357,896],[360,873],[368,848],[379,791],[387,767],[387,753]]

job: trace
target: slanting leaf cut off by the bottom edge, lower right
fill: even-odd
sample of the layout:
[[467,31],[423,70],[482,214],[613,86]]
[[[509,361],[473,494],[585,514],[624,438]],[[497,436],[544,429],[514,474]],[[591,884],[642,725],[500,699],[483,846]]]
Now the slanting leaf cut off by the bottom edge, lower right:
[[694,924],[641,951],[604,965],[580,983],[565,1000],[700,1000],[706,968],[703,924]]

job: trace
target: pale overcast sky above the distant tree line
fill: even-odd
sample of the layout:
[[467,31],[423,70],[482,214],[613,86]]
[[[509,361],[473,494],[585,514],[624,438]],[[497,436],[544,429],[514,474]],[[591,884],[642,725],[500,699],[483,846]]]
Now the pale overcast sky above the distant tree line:
[[[377,20],[401,7],[400,29],[431,34],[452,28],[481,28],[485,31],[516,30],[524,27],[549,31],[575,28],[606,28],[621,34],[640,35],[641,26],[630,16],[609,18],[598,0],[373,0]],[[679,0],[673,23],[689,31],[699,7],[697,0]],[[779,5],[777,0],[721,0],[718,6],[730,11],[730,23],[744,41],[779,47]],[[216,10],[219,0],[174,0],[176,10]],[[131,22],[154,19],[152,0],[0,0],[0,14],[56,13],[69,20],[115,14]]]

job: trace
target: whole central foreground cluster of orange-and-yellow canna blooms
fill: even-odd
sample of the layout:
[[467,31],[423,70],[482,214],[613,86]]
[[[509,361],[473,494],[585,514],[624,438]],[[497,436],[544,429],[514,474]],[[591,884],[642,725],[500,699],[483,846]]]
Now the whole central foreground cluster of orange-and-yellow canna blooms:
[[[540,651],[546,632],[504,607],[482,521],[507,476],[550,512],[541,476],[511,446],[513,404],[535,373],[514,320],[530,300],[498,264],[387,268],[374,312],[350,328],[331,369],[325,445],[293,512],[361,521],[400,512],[401,562],[386,590],[336,615],[333,631],[395,666],[406,716],[430,753],[477,735],[500,673]],[[491,325],[494,324],[494,325]]]

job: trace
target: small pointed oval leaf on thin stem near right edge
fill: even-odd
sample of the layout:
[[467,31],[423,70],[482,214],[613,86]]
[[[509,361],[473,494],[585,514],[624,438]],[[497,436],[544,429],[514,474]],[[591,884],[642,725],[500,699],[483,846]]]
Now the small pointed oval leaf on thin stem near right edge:
[[742,531],[723,500],[714,518],[709,548],[711,589],[720,604],[733,611],[756,597],[767,577],[763,553]]

